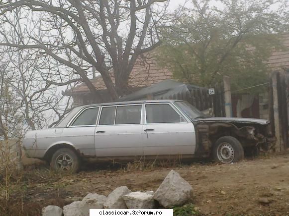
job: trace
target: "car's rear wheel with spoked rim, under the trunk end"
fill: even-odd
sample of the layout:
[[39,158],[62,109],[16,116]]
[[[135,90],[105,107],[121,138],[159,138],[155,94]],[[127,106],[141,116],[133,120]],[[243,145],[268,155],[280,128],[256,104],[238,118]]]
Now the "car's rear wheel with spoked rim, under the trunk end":
[[80,167],[80,158],[69,148],[58,149],[51,158],[50,166],[55,171],[75,173]]

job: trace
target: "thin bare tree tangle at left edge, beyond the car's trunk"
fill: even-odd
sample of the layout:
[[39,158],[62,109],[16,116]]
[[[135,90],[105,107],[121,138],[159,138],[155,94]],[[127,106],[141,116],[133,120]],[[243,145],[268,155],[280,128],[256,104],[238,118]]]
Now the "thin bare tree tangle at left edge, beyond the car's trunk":
[[57,87],[39,73],[43,58],[21,50],[1,54],[0,137],[21,137],[26,130],[51,127],[71,110],[71,98],[64,100]]

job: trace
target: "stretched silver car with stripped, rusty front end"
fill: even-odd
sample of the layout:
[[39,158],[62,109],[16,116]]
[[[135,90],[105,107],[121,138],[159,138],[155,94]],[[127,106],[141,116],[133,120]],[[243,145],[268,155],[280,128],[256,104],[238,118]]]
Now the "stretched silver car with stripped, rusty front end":
[[54,128],[29,131],[26,155],[56,170],[77,171],[81,159],[244,158],[244,149],[274,144],[269,121],[207,117],[185,101],[153,100],[74,108]]

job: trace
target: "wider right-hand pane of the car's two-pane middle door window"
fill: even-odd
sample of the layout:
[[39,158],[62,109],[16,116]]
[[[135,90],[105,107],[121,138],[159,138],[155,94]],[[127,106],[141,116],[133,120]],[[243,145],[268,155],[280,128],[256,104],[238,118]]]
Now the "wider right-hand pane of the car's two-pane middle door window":
[[116,108],[115,124],[140,124],[141,105],[119,106]]

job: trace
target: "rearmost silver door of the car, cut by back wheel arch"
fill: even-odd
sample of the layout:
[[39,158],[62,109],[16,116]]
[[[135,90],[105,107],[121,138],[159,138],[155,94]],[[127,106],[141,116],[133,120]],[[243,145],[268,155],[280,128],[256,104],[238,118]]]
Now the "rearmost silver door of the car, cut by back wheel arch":
[[71,144],[84,155],[96,156],[94,137],[98,112],[99,107],[85,108],[80,111],[68,127],[58,132],[58,143]]

